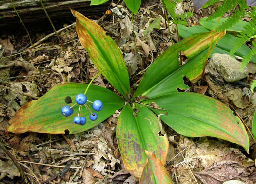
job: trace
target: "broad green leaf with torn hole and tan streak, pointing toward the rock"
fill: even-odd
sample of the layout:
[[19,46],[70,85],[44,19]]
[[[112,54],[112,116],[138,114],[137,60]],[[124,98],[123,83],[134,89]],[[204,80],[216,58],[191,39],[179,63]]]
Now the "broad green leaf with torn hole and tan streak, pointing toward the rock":
[[[185,76],[196,82],[202,75],[213,35],[215,44],[225,32],[193,34],[165,50],[145,73],[134,97],[153,98],[176,92],[177,88],[186,89],[188,87],[183,82]],[[183,66],[178,63],[179,51],[188,57],[188,62]]]

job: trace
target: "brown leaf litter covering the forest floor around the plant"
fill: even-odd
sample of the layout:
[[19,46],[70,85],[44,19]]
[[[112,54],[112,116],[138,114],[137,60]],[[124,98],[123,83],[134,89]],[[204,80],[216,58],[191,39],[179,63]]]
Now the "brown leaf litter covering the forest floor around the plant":
[[[110,35],[118,44],[123,55],[134,52],[134,38],[131,12],[124,4],[116,6],[122,15],[113,13],[102,17],[91,16],[92,20]],[[111,5],[110,8],[114,8]],[[188,19],[188,26],[199,25],[202,17],[208,17],[217,8],[211,7],[199,10]],[[193,11],[192,1],[183,1],[179,11]],[[225,15],[229,16],[229,15]],[[137,51],[140,59],[127,61],[130,83],[139,84],[146,69],[164,50],[172,45],[168,29],[164,24],[163,7],[157,0],[150,4],[143,4],[137,15],[134,15],[137,37]],[[156,18],[161,18],[160,29],[153,29],[147,36],[142,36],[149,24]],[[49,180],[51,184],[58,184],[61,171],[71,160],[70,167],[63,174],[62,183],[66,184],[135,184],[138,180],[125,169],[116,139],[116,125],[119,111],[95,128],[80,134],[42,134],[27,132],[23,134],[6,134],[8,121],[24,104],[36,97],[43,96],[49,89],[61,82],[88,83],[98,73],[91,62],[86,50],[81,46],[75,25],[68,22],[59,33],[64,45],[64,52],[56,36],[40,42],[36,49],[30,49],[30,41],[23,28],[12,34],[0,35],[2,47],[1,64],[16,62],[15,66],[0,68],[0,136],[1,141],[9,152],[19,161],[25,172],[28,183],[42,183]],[[71,25],[71,26],[69,26]],[[67,28],[68,26],[68,28]],[[60,29],[61,27],[59,27]],[[178,42],[175,25],[171,24],[172,39]],[[37,42],[52,30],[29,30],[33,42]],[[128,34],[128,35],[127,35]],[[25,48],[22,50],[22,48]],[[22,52],[20,53],[20,50]],[[14,54],[16,53],[16,54]],[[134,62],[136,64],[134,65]],[[254,74],[249,74],[242,80],[250,84]],[[99,76],[93,82],[115,89],[103,77]],[[191,92],[203,93],[218,99],[216,91],[205,80],[196,84],[187,82]],[[227,83],[226,83],[227,84]],[[216,88],[225,94],[225,84],[212,82]],[[232,88],[250,88],[238,84],[229,84]],[[26,95],[29,92],[30,95]],[[25,94],[24,94],[25,93]],[[247,104],[246,108],[236,107],[232,101],[229,106],[251,129],[254,106],[249,96],[244,95],[241,100]],[[54,123],[54,120],[53,120]],[[239,179],[245,183],[256,183],[256,168],[252,160],[256,156],[256,145],[250,138],[250,155],[243,148],[217,138],[188,138],[177,134],[170,127],[165,126],[169,137],[169,152],[166,168],[174,183],[180,184],[221,184],[230,179]],[[60,173],[56,177],[55,174]],[[0,184],[25,183],[20,173],[6,155],[0,150]]]

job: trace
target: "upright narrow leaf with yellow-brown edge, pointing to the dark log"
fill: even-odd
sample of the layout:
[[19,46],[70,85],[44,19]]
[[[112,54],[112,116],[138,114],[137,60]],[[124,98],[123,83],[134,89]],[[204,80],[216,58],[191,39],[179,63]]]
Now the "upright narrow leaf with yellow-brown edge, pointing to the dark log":
[[72,10],[79,40],[88,51],[91,60],[106,79],[123,95],[130,93],[128,70],[117,44],[95,22]]

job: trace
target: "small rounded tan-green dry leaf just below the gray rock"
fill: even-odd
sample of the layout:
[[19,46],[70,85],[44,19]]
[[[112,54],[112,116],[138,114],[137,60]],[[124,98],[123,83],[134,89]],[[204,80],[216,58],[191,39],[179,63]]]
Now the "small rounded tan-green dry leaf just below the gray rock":
[[232,89],[229,92],[225,93],[225,95],[231,100],[236,107],[244,109],[247,107],[243,100],[243,93],[240,89]]

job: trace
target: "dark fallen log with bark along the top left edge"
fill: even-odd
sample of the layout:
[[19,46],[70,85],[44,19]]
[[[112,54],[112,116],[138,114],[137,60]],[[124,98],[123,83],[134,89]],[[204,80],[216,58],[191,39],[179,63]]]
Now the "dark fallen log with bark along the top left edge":
[[[13,0],[14,6],[25,25],[49,23],[40,0]],[[110,1],[98,6],[90,6],[91,0],[43,0],[43,4],[53,22],[74,20],[70,8],[85,16],[102,15],[109,7]],[[22,26],[14,11],[11,0],[0,0],[0,27],[14,28]]]

